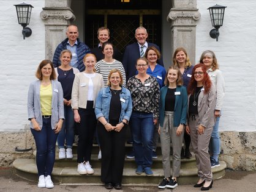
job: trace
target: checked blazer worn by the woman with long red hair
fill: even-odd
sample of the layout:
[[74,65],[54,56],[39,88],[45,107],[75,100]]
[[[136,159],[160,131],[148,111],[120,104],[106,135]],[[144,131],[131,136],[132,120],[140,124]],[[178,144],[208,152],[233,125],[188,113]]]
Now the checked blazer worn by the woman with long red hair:
[[[215,124],[214,110],[216,105],[216,90],[215,86],[212,84],[211,89],[207,94],[201,91],[198,96],[198,116],[201,126],[213,127]],[[189,94],[190,98],[190,94]],[[189,102],[187,102],[189,104]]]

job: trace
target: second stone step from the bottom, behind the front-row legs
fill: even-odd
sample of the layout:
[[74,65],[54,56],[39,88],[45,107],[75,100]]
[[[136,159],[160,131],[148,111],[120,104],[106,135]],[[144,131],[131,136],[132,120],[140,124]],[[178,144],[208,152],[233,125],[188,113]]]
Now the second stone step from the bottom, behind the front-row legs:
[[[33,152],[35,160],[36,160],[36,151]],[[77,166],[77,154],[73,154],[72,159],[61,159],[59,160],[59,155],[58,152],[55,153],[55,166],[58,167],[66,167],[66,166]],[[172,162],[173,156],[170,156],[170,160]],[[90,164],[94,168],[100,168],[101,166],[101,160],[98,159],[97,154],[92,154],[91,155],[91,162]],[[181,168],[190,168],[195,166],[195,157],[194,154],[192,153],[192,158],[184,158],[181,160]],[[124,167],[125,168],[136,168],[137,165],[135,163],[134,159],[128,159],[125,158],[124,160]],[[158,155],[157,159],[153,159],[153,164],[152,168],[162,168],[162,155]]]

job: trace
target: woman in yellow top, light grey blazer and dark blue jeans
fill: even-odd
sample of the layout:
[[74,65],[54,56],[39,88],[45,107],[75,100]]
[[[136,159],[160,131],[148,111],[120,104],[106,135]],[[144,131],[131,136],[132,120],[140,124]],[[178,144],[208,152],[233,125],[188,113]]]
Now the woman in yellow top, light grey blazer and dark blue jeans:
[[40,62],[36,80],[28,91],[28,119],[36,141],[38,187],[53,188],[51,172],[55,163],[55,144],[64,119],[63,91],[56,79],[53,63]]

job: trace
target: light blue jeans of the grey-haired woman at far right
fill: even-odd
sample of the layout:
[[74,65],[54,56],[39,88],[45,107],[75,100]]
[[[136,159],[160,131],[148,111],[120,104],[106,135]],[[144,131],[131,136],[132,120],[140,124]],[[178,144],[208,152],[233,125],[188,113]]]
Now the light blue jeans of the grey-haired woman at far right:
[[219,119],[220,117],[216,118],[216,123],[213,127],[213,132],[211,133],[211,140],[209,143],[209,150],[212,154],[212,158],[214,158],[216,161],[218,161],[220,154]]

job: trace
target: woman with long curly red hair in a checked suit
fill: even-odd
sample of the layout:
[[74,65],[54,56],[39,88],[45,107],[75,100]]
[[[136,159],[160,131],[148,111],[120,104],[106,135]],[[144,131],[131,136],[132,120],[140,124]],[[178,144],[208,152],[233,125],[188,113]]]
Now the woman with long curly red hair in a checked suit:
[[215,124],[216,90],[203,63],[195,65],[187,93],[189,95],[189,126],[186,127],[186,131],[190,133],[198,177],[200,177],[194,187],[201,187],[201,191],[206,191],[213,186],[208,146]]

